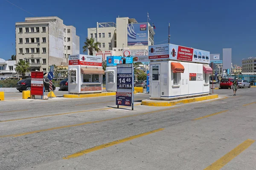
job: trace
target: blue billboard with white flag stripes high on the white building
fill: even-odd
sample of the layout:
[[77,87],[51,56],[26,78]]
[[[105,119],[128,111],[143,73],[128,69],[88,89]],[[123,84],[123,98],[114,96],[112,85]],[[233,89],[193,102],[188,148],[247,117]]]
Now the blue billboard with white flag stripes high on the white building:
[[148,23],[127,24],[127,45],[148,45]]

